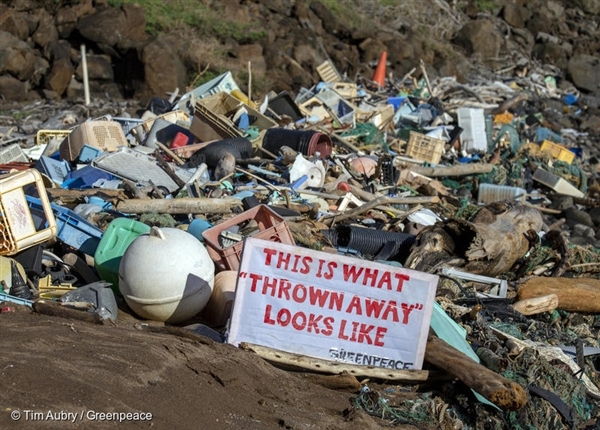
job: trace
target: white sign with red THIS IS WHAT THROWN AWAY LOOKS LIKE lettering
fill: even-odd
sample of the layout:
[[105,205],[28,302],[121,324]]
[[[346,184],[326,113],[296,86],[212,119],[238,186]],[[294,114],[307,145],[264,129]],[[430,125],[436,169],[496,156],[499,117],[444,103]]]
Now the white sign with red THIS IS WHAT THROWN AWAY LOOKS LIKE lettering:
[[247,238],[228,343],[421,369],[438,277]]

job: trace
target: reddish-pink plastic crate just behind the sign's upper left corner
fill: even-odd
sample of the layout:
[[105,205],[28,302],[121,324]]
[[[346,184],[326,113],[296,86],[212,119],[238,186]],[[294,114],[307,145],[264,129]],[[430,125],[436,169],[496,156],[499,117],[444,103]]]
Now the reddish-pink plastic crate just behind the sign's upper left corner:
[[220,238],[223,232],[231,232],[250,220],[254,220],[258,224],[258,231],[250,236],[289,245],[296,244],[285,220],[267,205],[258,205],[202,232],[208,254],[218,269],[238,270],[244,246],[243,240],[232,242],[227,246],[228,244],[222,242]]

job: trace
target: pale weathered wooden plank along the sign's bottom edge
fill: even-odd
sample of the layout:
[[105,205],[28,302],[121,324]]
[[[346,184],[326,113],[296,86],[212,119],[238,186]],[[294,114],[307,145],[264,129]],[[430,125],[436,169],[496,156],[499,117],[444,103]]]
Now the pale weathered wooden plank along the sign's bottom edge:
[[255,345],[248,342],[241,342],[240,348],[245,351],[251,351],[258,354],[265,360],[289,366],[292,368],[301,368],[320,373],[340,374],[347,372],[354,376],[365,376],[369,378],[384,379],[390,381],[402,382],[423,382],[429,377],[427,370],[396,370],[383,367],[361,366],[357,364],[341,363],[338,361],[324,360],[321,358],[308,357],[301,354],[292,354],[278,349],[266,346]]

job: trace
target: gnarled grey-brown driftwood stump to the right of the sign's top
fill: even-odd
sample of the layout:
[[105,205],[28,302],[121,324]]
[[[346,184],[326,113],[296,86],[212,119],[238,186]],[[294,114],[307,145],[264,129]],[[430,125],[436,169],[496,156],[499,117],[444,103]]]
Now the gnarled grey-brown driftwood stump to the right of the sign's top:
[[527,253],[530,239],[537,240],[543,227],[540,213],[520,204],[495,204],[479,212],[475,222],[449,219],[425,227],[405,267],[431,273],[446,265],[496,276]]

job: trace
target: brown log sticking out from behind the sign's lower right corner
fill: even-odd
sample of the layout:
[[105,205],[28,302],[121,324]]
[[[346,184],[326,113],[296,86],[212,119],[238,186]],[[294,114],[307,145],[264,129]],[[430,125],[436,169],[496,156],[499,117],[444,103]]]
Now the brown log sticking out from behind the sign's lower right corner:
[[444,369],[505,411],[521,409],[527,393],[519,384],[477,363],[448,343],[430,334],[425,361]]

